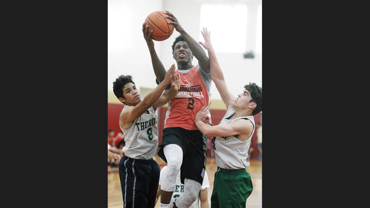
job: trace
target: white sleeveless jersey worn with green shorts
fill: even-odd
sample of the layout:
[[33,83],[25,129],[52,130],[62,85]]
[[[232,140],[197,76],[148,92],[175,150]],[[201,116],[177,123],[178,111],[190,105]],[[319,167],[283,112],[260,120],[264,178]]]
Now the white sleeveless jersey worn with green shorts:
[[255,131],[255,122],[252,115],[243,116],[234,119],[226,119],[235,114],[236,109],[231,108],[226,111],[222,120],[218,125],[230,124],[238,119],[247,118],[253,124],[253,131],[250,137],[246,141],[240,141],[234,136],[229,137],[213,137],[212,144],[213,149],[215,149],[216,163],[220,168],[226,169],[242,169],[249,166],[247,162],[248,158],[248,149],[252,135]]

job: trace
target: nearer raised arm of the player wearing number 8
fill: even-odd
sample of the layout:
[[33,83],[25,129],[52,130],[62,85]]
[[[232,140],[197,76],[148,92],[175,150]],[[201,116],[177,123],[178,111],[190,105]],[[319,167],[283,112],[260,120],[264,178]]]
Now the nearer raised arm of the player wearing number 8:
[[168,84],[171,83],[172,76],[175,71],[175,64],[172,64],[171,68],[166,73],[164,80],[152,90],[145,98],[135,106],[128,107],[127,110],[123,111],[120,116],[120,123],[130,123],[135,119],[139,118],[145,113],[157,100],[161,97],[162,92],[165,90]]

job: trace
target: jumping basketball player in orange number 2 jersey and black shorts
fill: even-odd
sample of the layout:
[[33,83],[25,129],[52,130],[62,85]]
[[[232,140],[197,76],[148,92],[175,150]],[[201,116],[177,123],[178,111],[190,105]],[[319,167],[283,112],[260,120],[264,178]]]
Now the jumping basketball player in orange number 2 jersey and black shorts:
[[[179,71],[180,89],[168,103],[163,140],[159,145],[161,149],[158,155],[167,162],[168,169],[161,184],[160,207],[169,207],[175,190],[176,175],[181,170],[184,194],[176,200],[174,208],[188,208],[198,197],[206,165],[207,138],[196,127],[194,118],[204,105],[209,106],[211,103],[209,90],[212,80],[209,60],[202,47],[186,33],[172,13],[166,11],[165,14],[172,20],[169,24],[174,25],[181,34],[172,45],[173,58]],[[148,30],[148,25],[143,23],[142,31],[151,54],[154,73],[161,82],[166,71],[154,50],[151,38],[153,31]],[[199,61],[196,66],[192,64],[194,56]],[[212,125],[210,114],[207,123]]]

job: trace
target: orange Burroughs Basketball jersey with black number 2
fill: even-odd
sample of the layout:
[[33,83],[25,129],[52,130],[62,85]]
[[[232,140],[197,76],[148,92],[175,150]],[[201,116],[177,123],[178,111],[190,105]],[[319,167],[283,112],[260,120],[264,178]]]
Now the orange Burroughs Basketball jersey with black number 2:
[[[204,105],[211,104],[211,94],[207,90],[207,87],[208,89],[211,87],[211,74],[201,71],[199,65],[193,66],[187,73],[181,71],[186,70],[178,71],[180,88],[176,97],[169,101],[164,128],[181,127],[187,130],[198,130],[194,123],[195,114]],[[208,117],[211,121],[209,111]]]

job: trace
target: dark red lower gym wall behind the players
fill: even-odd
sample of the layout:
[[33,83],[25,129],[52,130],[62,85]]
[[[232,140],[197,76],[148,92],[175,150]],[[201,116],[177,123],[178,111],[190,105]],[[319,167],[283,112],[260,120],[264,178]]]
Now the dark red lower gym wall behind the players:
[[[121,105],[121,104],[108,103],[108,130],[113,129],[115,131],[115,135],[117,135],[118,132],[121,131],[120,125],[118,124],[118,121],[120,119],[120,113],[122,112],[123,107],[124,107],[124,105]],[[165,119],[165,116],[166,116],[166,111],[167,111],[166,107],[161,107],[161,108],[159,108],[159,112],[158,112],[158,115],[157,115],[157,117],[158,117],[158,141],[159,141],[159,144],[161,144],[161,142],[162,142],[162,135],[163,135],[162,131],[163,131],[163,128],[164,128],[164,119]],[[214,125],[218,125],[218,123],[220,123],[223,115],[225,115],[226,110],[212,110],[211,109],[210,112],[211,112],[212,123]],[[255,119],[255,123],[257,124],[260,121],[260,113],[255,115],[254,119]],[[108,133],[108,130],[107,130],[107,133]],[[208,140],[212,140],[212,138],[208,137]],[[250,147],[253,147],[253,151],[250,154],[250,159],[258,159],[258,145],[257,145],[256,130],[255,130],[254,134],[252,135],[252,141],[251,141]],[[210,156],[209,151],[212,151],[211,148],[212,148],[211,145],[207,145],[207,157]],[[159,148],[157,149],[157,151],[158,150],[159,150]]]

